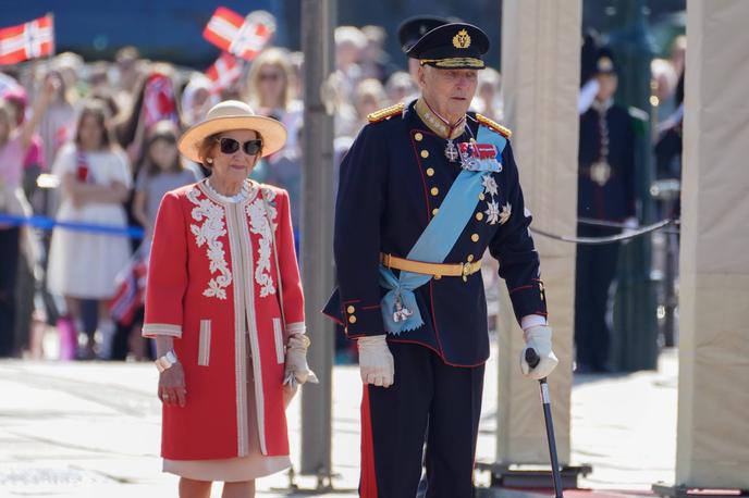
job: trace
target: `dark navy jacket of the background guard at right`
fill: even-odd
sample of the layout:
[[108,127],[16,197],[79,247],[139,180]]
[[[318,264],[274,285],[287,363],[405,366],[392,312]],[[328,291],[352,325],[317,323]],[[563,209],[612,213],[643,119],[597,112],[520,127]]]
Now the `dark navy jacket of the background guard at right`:
[[[612,104],[603,114],[602,121],[591,107],[580,116],[577,215],[621,222],[635,216],[635,130],[626,109]],[[597,180],[593,165],[601,160],[611,169],[607,178]]]

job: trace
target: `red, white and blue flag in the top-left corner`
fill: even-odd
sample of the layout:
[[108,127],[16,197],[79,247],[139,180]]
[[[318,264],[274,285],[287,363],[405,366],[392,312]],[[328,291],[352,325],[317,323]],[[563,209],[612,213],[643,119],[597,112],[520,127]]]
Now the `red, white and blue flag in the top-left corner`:
[[15,64],[53,52],[52,14],[0,29],[0,64]]

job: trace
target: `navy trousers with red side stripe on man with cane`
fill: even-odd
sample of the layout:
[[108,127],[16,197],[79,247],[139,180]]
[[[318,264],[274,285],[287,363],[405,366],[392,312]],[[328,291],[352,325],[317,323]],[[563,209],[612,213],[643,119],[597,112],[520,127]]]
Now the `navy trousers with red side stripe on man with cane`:
[[426,443],[427,498],[472,497],[484,366],[451,366],[416,344],[390,350],[394,384],[364,386],[359,496],[416,497]]

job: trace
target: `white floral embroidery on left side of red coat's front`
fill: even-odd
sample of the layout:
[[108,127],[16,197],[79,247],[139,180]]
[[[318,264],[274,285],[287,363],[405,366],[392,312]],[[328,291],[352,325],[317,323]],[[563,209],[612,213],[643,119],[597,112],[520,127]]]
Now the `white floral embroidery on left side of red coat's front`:
[[189,225],[189,231],[195,236],[198,247],[208,246],[206,256],[208,257],[211,273],[219,272],[216,278],[208,282],[208,288],[202,291],[206,297],[226,299],[226,287],[232,283],[232,273],[226,264],[226,253],[219,237],[226,235],[223,222],[223,208],[214,204],[207,197],[200,198],[200,190],[197,188],[187,192],[187,199],[196,207],[193,208],[192,215],[199,225]]

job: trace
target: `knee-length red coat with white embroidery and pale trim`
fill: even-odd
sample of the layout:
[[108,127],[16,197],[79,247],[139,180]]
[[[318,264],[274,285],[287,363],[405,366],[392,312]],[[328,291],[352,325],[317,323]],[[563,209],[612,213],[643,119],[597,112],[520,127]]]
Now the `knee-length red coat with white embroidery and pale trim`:
[[[161,201],[143,335],[173,336],[185,371],[187,406],[163,408],[161,455],[168,459],[246,456],[248,409],[257,410],[262,453],[288,455],[284,345],[305,329],[288,194],[248,186],[248,198],[236,203],[222,202],[205,180]],[[255,379],[255,400],[247,399],[246,378]]]

